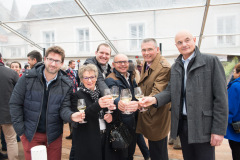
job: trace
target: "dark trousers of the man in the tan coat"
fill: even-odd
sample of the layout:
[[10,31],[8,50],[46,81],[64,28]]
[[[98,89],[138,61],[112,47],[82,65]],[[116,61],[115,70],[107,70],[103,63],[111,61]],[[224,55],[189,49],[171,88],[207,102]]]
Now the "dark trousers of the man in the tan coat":
[[150,141],[149,151],[151,160],[168,160],[167,137],[160,141]]

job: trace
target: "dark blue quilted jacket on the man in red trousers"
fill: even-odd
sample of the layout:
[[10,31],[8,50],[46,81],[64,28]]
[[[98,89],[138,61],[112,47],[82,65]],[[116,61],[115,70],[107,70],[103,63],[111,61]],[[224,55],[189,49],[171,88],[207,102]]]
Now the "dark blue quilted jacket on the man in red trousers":
[[[10,99],[10,114],[16,133],[25,134],[31,142],[39,125],[43,108],[45,65],[40,64],[27,71],[19,79]],[[49,90],[46,110],[46,134],[48,144],[63,133],[63,120],[71,122],[71,81],[63,71],[58,72],[56,81]]]

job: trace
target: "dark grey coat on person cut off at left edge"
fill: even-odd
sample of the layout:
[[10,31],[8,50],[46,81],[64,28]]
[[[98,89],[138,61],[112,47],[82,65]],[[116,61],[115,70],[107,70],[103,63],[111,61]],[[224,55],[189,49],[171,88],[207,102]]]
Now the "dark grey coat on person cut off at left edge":
[[19,75],[14,70],[0,63],[0,124],[11,124],[9,99]]

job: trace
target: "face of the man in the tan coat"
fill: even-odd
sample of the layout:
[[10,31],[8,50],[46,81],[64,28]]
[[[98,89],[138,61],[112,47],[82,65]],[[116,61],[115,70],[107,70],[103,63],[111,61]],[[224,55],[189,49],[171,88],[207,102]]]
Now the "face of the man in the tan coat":
[[152,63],[159,52],[159,48],[152,41],[142,43],[141,49],[144,61],[147,63]]

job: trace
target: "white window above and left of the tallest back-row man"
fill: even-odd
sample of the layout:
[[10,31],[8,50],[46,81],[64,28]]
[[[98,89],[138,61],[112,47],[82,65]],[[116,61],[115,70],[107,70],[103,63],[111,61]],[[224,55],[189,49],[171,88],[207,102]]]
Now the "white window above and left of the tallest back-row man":
[[81,28],[77,30],[78,51],[89,51],[89,29]]

